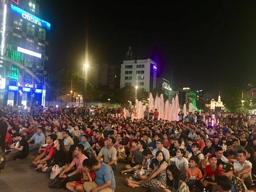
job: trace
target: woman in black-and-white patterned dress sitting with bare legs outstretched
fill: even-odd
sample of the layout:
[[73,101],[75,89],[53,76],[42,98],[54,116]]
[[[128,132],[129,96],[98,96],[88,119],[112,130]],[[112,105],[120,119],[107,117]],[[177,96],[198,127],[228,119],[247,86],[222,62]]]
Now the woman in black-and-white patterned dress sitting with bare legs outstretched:
[[166,186],[166,172],[167,162],[163,151],[156,152],[156,161],[154,163],[154,170],[150,173],[145,181],[130,181],[126,178],[128,186],[134,187],[147,187],[147,188],[160,188],[160,186]]

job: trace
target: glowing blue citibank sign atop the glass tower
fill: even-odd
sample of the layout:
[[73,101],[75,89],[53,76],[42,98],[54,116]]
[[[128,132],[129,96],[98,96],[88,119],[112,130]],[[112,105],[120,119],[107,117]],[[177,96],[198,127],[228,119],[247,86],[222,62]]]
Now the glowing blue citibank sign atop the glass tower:
[[42,28],[46,28],[46,30],[50,31],[51,24],[42,20],[41,18],[36,17],[35,15],[32,15],[23,9],[20,9],[19,7],[14,6],[11,4],[11,12],[13,12],[15,15],[18,15],[19,17],[22,17]]

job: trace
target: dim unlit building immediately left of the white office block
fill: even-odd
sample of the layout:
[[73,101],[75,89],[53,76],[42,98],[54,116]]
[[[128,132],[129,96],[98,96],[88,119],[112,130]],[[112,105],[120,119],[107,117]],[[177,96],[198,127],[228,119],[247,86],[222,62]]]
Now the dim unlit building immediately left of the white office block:
[[120,89],[121,65],[108,66],[108,85],[109,89]]

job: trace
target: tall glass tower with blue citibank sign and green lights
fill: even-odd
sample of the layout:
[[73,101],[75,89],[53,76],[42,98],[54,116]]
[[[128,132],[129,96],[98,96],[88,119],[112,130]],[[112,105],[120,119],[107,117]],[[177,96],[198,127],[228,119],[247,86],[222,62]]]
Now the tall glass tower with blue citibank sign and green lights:
[[1,105],[45,103],[50,23],[40,15],[39,4],[39,0],[0,1]]

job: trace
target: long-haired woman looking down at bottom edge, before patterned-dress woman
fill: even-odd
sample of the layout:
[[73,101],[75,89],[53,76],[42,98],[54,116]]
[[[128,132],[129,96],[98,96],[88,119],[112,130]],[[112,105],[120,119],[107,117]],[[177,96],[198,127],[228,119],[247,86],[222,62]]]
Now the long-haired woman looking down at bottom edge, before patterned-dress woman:
[[169,165],[166,168],[166,175],[167,187],[165,185],[160,185],[164,192],[189,192],[189,188],[185,181],[182,179],[176,165]]

